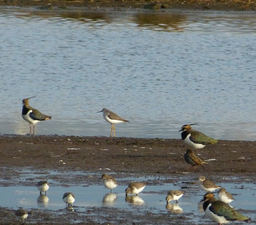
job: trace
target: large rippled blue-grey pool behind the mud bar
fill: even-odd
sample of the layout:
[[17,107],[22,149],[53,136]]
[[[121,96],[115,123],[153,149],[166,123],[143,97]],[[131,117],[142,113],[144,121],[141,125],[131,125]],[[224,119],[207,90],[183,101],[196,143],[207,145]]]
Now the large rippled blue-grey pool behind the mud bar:
[[0,133],[255,140],[256,15],[0,9]]

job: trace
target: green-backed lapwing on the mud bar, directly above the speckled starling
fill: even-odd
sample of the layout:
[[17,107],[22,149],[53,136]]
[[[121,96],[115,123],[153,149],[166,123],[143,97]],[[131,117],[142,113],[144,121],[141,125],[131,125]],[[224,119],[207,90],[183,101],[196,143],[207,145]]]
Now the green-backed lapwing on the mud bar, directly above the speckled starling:
[[181,133],[182,140],[190,147],[195,148],[195,154],[197,153],[198,148],[203,148],[207,144],[215,144],[218,140],[210,138],[205,134],[193,130],[191,125],[196,125],[197,123],[185,124],[181,127],[179,131],[183,131]]

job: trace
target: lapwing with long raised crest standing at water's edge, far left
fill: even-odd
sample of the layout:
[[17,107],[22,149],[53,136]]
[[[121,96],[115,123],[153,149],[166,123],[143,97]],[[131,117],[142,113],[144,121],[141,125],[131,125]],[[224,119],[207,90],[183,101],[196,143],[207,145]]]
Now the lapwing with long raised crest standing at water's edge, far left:
[[[31,97],[34,98],[35,96]],[[50,120],[52,117],[50,115],[44,115],[40,113],[38,110],[32,108],[29,105],[29,99],[22,100],[22,117],[29,123],[30,126],[30,133],[31,133],[31,126],[33,125],[33,134],[35,134],[35,124],[42,120]]]

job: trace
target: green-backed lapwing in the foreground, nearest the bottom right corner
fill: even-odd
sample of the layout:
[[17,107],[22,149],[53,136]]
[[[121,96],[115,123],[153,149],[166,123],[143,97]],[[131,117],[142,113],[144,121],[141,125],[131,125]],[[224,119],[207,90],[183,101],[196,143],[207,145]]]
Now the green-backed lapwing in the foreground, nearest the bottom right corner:
[[205,194],[202,201],[204,201],[203,210],[206,216],[217,222],[219,225],[228,223],[229,221],[248,222],[251,220],[251,218],[234,210],[227,203],[215,199],[213,193]]

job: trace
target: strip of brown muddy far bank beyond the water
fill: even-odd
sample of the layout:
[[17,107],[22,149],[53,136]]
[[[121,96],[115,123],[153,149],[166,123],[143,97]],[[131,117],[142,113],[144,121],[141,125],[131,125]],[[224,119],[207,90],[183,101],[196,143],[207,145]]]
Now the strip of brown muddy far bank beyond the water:
[[256,1],[243,0],[1,0],[0,6],[41,7],[66,10],[82,7],[89,10],[220,10],[255,11]]

